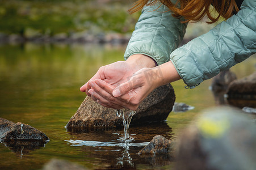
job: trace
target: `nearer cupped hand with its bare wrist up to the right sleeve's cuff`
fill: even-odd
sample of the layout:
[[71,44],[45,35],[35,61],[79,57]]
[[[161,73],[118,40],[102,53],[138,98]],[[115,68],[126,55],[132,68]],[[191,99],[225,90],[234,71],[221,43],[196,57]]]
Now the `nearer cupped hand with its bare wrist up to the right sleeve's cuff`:
[[135,111],[142,100],[154,88],[181,79],[173,63],[167,62],[153,68],[143,68],[132,75],[131,79],[117,86],[103,80],[94,80],[90,94],[96,101],[109,108],[128,108]]

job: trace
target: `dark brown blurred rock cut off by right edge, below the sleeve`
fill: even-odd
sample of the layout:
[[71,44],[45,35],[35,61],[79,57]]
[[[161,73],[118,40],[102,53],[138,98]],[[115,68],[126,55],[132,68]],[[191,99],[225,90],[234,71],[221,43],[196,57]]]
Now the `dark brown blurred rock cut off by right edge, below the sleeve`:
[[236,107],[256,107],[256,72],[234,80],[228,87],[228,102]]

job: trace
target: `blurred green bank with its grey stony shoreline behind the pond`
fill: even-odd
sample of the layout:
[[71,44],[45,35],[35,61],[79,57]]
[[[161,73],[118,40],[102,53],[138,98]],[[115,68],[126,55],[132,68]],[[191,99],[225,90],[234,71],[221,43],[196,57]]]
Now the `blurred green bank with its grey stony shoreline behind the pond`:
[[[0,43],[127,42],[140,16],[140,12],[128,14],[131,0],[1,0],[0,3]],[[188,30],[188,36],[196,37],[212,27],[203,25]]]

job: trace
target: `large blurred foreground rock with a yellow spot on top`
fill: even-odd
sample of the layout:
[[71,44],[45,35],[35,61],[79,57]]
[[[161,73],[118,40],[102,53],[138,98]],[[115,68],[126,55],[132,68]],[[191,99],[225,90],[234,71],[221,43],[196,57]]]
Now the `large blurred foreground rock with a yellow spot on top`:
[[205,111],[179,138],[176,169],[255,169],[255,128],[242,111]]

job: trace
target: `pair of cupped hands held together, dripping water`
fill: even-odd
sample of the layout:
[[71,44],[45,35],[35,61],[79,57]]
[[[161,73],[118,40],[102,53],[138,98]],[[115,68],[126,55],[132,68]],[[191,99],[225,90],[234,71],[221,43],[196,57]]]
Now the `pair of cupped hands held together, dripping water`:
[[154,89],[145,74],[154,66],[152,61],[140,55],[102,66],[80,90],[104,107],[135,111]]

